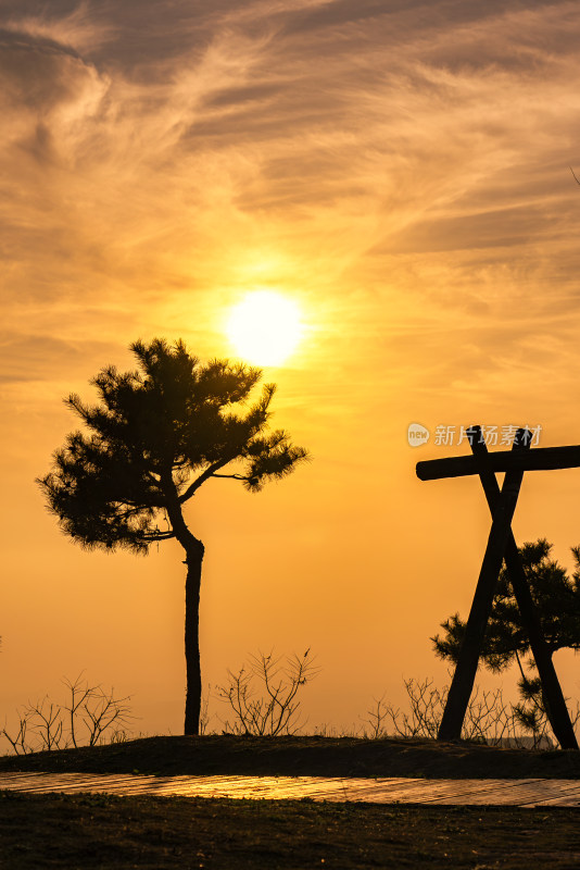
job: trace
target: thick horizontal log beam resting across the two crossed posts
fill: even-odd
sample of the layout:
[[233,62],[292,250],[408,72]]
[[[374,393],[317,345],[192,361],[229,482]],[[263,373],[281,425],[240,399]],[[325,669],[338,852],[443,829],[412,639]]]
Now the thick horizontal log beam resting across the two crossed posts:
[[580,468],[580,446],[535,447],[521,452],[496,450],[486,457],[452,456],[417,462],[420,481],[439,481],[443,477],[465,477],[470,474],[501,471],[550,471]]

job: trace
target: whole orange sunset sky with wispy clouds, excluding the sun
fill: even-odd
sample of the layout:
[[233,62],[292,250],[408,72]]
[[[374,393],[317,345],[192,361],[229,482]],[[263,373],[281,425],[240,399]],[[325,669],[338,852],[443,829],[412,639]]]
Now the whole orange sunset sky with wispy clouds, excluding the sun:
[[[260,649],[316,656],[311,728],[358,728],[404,678],[449,682],[429,638],[467,616],[489,518],[476,480],[421,483],[415,463],[469,452],[472,423],[496,427],[490,449],[524,424],[580,442],[578,3],[0,12],[0,719],[85,672],[131,696],[136,731],[180,732],[178,545],[86,552],[35,477],[77,425],[64,397],[131,369],[137,338],[236,359],[225,324],[255,289],[302,311],[264,378],[312,461],[188,507],[214,725],[215,686]],[[517,540],[571,566],[579,488],[579,470],[527,474]],[[555,663],[580,698],[578,659]]]

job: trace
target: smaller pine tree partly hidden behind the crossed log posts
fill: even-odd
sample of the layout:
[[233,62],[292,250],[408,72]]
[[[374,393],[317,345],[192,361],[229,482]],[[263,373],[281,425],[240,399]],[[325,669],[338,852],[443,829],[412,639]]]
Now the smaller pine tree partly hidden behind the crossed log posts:
[[[545,538],[518,548],[542,632],[553,655],[557,649],[580,649],[580,547],[571,548],[575,560],[571,575],[550,558],[552,544]],[[438,656],[457,661],[465,625],[458,613],[441,623],[444,634],[441,637],[438,634],[431,637]],[[481,660],[494,672],[505,670],[514,661],[517,663],[520,672],[518,688],[522,703],[515,707],[515,711],[520,723],[535,732],[542,718],[549,716],[549,710],[533,658],[527,662],[529,673],[524,669],[524,659],[530,656],[530,642],[521,624],[516,598],[504,567],[486,629]]]

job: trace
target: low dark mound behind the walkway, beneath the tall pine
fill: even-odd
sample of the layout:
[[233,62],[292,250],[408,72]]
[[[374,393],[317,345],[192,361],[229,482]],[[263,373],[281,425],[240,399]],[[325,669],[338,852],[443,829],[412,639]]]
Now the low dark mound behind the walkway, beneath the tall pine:
[[580,753],[478,743],[360,737],[146,737],[109,746],[0,758],[8,770],[159,773],[580,779]]

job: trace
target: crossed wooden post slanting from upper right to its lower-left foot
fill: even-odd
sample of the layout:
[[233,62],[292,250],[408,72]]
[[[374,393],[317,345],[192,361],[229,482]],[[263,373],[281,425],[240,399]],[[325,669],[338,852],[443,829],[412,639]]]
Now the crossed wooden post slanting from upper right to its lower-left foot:
[[[525,445],[525,432],[526,430],[518,430],[514,447],[516,445],[529,447],[529,438],[527,439],[528,444]],[[474,462],[477,462],[475,457],[472,459]],[[512,518],[516,509],[522,477],[522,468],[506,472],[502,492],[493,512],[493,522],[481,571],[479,572],[474,602],[465,629],[464,642],[459,650],[443,718],[439,726],[438,738],[440,741],[459,739],[462,736],[463,721],[474,689],[483,635],[486,634],[486,626],[491,612],[495,584],[504,560]]]

